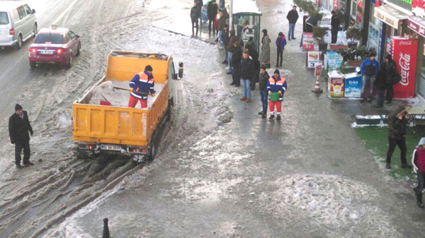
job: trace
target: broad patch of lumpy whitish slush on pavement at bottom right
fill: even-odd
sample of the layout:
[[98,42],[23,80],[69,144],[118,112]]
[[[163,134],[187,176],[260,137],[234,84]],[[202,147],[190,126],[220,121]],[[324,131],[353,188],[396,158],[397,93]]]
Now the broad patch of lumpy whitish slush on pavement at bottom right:
[[302,213],[336,237],[398,237],[390,218],[377,206],[378,192],[334,175],[291,174],[273,184],[280,212]]

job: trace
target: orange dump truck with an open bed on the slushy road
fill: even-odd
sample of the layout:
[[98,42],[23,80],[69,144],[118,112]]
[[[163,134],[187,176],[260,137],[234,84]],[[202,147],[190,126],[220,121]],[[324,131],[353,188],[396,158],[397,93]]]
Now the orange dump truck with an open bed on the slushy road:
[[[147,108],[142,109],[140,102],[129,108],[130,92],[115,86],[129,88],[133,76],[147,65],[153,68],[156,93],[149,95]],[[139,161],[153,158],[159,128],[174,104],[174,80],[182,76],[183,63],[176,73],[171,56],[123,51],[108,54],[106,76],[72,105],[72,139],[78,144],[79,155],[106,150],[128,153]]]

